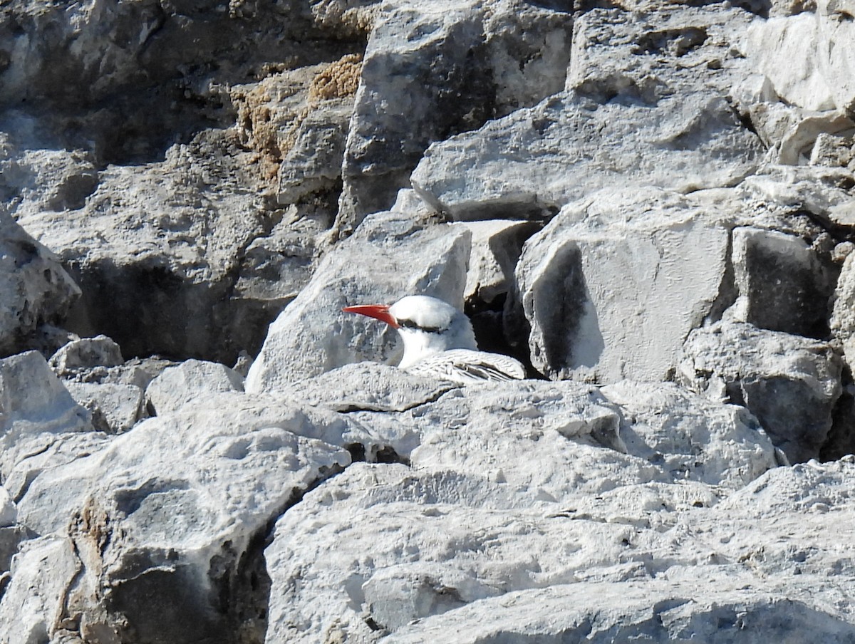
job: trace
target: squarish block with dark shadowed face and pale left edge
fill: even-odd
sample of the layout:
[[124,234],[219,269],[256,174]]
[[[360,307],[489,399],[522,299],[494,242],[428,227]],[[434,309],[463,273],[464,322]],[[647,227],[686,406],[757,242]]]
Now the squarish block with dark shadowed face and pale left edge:
[[774,230],[733,232],[734,319],[758,328],[824,338],[838,270],[804,239]]

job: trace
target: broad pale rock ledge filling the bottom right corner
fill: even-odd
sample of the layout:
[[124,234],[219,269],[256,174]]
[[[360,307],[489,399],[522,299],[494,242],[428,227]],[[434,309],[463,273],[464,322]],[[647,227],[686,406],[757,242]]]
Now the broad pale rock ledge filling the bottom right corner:
[[[537,505],[501,507],[510,493],[503,482],[357,464],[280,519],[265,553],[273,581],[266,641],[317,641],[322,633],[474,643],[536,633],[544,641],[605,642],[644,633],[665,642],[685,636],[687,622],[705,641],[732,641],[736,629],[746,641],[764,641],[770,629],[794,632],[806,619],[843,642],[840,634],[855,630],[852,612],[834,598],[852,582],[828,569],[848,570],[852,547],[827,527],[852,527],[852,465],[817,470],[769,470],[712,507],[665,510],[650,494],[642,505],[624,505],[621,516],[602,507],[553,514]],[[475,485],[489,490],[489,500],[461,512]],[[655,485],[642,487],[652,493]],[[470,491],[461,497],[463,489]],[[618,490],[612,503],[631,498]],[[602,496],[608,506],[610,495]],[[339,515],[342,505],[348,509]],[[799,550],[792,535],[804,529],[828,549]],[[535,546],[555,530],[563,539]],[[769,535],[780,541],[764,547]],[[799,617],[790,622],[793,611]]]

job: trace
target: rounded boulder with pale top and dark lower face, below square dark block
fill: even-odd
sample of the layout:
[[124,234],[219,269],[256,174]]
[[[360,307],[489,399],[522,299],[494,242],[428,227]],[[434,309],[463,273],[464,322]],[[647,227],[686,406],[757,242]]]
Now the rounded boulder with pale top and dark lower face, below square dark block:
[[753,327],[717,322],[689,334],[682,381],[698,391],[723,383],[791,462],[817,458],[840,397],[840,358],[831,346]]

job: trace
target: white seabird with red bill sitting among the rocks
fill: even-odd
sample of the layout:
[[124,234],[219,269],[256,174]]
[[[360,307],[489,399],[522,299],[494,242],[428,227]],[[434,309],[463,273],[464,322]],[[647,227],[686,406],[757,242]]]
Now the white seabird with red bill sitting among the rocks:
[[342,310],[373,317],[398,331],[404,340],[398,369],[410,374],[457,384],[526,377],[525,367],[513,357],[479,351],[469,317],[439,298],[408,295],[392,305],[357,304]]

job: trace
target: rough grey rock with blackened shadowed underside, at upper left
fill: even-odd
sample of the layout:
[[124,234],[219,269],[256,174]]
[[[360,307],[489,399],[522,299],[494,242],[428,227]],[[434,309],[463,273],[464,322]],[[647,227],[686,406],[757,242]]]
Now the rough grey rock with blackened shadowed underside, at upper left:
[[241,251],[264,222],[245,188],[256,180],[238,168],[242,155],[230,147],[223,135],[202,133],[144,169],[106,168],[80,210],[21,218],[37,239],[61,249],[80,284],[71,330],[107,334],[130,356],[233,362],[239,349],[257,346],[261,329],[239,322],[240,303],[227,292]]

